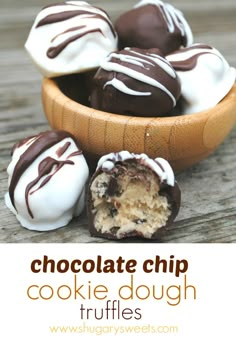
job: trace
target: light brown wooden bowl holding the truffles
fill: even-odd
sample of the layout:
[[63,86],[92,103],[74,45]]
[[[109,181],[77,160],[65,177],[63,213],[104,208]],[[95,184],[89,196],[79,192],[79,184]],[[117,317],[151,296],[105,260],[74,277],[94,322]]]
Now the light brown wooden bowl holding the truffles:
[[236,121],[236,85],[209,110],[177,117],[143,118],[89,108],[87,83],[84,75],[45,78],[42,101],[50,126],[71,132],[85,155],[95,160],[110,152],[128,150],[146,153],[151,158],[163,157],[175,171],[180,171],[212,153]]

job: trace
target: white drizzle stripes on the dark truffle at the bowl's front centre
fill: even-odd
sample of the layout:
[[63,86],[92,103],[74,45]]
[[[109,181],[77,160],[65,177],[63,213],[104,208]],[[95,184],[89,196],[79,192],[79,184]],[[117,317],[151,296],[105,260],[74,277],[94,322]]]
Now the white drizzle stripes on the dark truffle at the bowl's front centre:
[[[171,98],[173,102],[173,107],[174,107],[176,105],[176,99],[174,95],[170,92],[170,90],[168,90],[167,87],[161,83],[161,81],[157,81],[153,79],[151,76],[147,76],[143,74],[142,72],[131,69],[128,66],[125,66],[123,64],[112,62],[112,59],[113,58],[119,59],[122,62],[125,62],[128,64],[138,65],[141,68],[144,68],[146,66],[146,67],[149,67],[149,69],[151,69],[151,67],[158,66],[162,68],[162,70],[165,71],[170,77],[176,78],[177,77],[176,72],[174,71],[170,63],[166,61],[163,57],[157,54],[148,54],[148,55],[145,54],[144,55],[137,51],[132,50],[131,48],[125,48],[125,50],[129,51],[129,54],[111,53],[106,59],[104,59],[101,62],[101,68],[106,71],[114,71],[117,73],[125,74],[135,80],[138,80],[145,84],[149,84],[151,86],[159,88]],[[148,60],[150,60],[150,62]],[[112,85],[117,90],[127,95],[132,95],[132,96],[151,95],[150,92],[140,92],[140,91],[132,90],[128,88],[121,80],[118,80],[117,78],[113,78],[111,81],[106,82],[104,85],[104,88],[108,85]]]

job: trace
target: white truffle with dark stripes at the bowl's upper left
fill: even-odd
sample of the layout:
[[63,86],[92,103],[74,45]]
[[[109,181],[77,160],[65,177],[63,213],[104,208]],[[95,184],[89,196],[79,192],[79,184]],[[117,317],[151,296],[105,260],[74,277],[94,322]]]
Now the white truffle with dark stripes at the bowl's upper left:
[[102,9],[65,1],[40,11],[25,48],[44,76],[55,77],[97,68],[117,49],[117,34]]

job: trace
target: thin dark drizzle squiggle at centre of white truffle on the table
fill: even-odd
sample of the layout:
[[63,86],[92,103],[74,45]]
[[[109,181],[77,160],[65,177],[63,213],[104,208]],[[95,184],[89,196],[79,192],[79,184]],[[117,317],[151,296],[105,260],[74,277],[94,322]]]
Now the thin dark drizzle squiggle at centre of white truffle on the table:
[[[68,145],[68,143],[66,143],[65,145]],[[40,162],[39,167],[38,167],[38,177],[34,179],[31,183],[29,183],[25,189],[26,206],[27,206],[28,213],[32,219],[34,218],[34,215],[29,206],[29,194],[32,195],[34,192],[38,191],[44,185],[46,185],[51,180],[51,178],[66,164],[74,165],[74,162],[72,162],[71,160],[58,161],[51,157],[46,157],[44,160]],[[49,174],[50,172],[52,172],[54,168],[55,168],[54,172]],[[40,181],[40,179],[42,179],[43,176],[45,175],[48,175],[48,176],[41,182],[40,186],[36,190],[31,192],[32,188],[36,186],[38,182]]]

